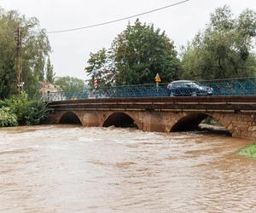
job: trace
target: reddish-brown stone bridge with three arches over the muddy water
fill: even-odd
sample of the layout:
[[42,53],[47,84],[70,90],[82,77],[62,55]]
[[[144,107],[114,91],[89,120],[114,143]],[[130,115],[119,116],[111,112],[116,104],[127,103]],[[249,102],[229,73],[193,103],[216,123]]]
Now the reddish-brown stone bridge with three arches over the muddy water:
[[143,131],[195,130],[205,118],[233,136],[256,137],[256,96],[88,99],[49,102],[51,124],[136,126]]

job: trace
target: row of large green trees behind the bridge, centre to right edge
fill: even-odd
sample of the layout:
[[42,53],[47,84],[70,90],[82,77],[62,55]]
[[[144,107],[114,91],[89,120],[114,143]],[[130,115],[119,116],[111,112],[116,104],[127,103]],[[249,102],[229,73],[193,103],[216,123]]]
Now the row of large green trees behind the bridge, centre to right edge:
[[90,85],[97,79],[99,86],[154,83],[157,72],[164,82],[251,77],[256,73],[255,37],[255,12],[247,9],[236,18],[224,6],[178,57],[165,32],[136,20],[113,39],[110,49],[91,53],[85,71]]

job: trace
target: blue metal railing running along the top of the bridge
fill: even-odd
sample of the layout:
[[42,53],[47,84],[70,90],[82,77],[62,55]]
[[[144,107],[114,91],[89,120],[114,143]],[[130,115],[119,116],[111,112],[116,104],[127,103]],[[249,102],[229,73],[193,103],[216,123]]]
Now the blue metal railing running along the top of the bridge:
[[55,92],[43,95],[44,101],[83,100],[96,98],[166,97],[184,95],[256,95],[256,77],[213,81],[176,81]]

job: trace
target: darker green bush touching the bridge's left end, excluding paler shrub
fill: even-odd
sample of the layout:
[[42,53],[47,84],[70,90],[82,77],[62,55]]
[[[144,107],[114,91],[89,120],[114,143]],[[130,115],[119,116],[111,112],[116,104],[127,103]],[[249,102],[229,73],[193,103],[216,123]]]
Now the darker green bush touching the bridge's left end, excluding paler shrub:
[[26,93],[11,96],[1,101],[0,106],[8,108],[10,113],[15,114],[20,125],[40,124],[48,117],[49,112],[43,101],[29,101]]

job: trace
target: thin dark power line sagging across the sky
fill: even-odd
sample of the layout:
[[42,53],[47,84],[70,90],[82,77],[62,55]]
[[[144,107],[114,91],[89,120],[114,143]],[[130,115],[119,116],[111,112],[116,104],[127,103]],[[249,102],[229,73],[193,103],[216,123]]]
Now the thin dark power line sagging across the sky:
[[95,24],[95,25],[82,26],[82,27],[71,28],[71,29],[60,30],[60,31],[50,31],[50,32],[46,32],[46,33],[53,34],[53,33],[60,33],[60,32],[71,32],[71,31],[79,31],[79,30],[83,30],[83,29],[88,29],[88,28],[92,28],[92,27],[96,27],[96,26],[105,26],[105,25],[112,24],[114,22],[118,22],[118,21],[121,21],[121,20],[129,20],[131,18],[142,16],[144,14],[150,14],[150,13],[154,13],[156,11],[162,10],[162,9],[168,9],[168,8],[173,7],[173,6],[177,6],[178,4],[186,3],[186,2],[189,2],[189,1],[190,0],[184,0],[184,1],[181,1],[181,2],[178,2],[178,3],[172,3],[172,4],[166,5],[165,7],[162,7],[162,8],[159,8],[159,9],[152,9],[152,10],[146,11],[146,12],[141,13],[141,14],[134,14],[134,15],[131,15],[131,16],[128,16],[128,17],[125,17],[125,18],[118,19],[118,20],[109,20],[107,22],[102,22],[102,23]]

